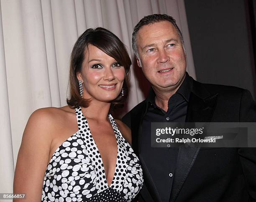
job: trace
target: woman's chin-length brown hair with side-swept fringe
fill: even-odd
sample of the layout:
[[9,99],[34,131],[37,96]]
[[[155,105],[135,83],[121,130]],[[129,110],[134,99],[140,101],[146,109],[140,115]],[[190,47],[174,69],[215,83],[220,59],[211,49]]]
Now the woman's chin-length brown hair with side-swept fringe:
[[82,70],[84,55],[88,53],[88,45],[94,45],[101,51],[114,58],[121,66],[125,68],[125,79],[123,82],[122,93],[115,100],[111,101],[111,109],[114,106],[123,105],[128,96],[128,81],[130,78],[131,59],[127,53],[125,45],[120,39],[105,28],[87,29],[77,39],[70,57],[69,68],[69,86],[70,98],[67,98],[67,104],[72,108],[78,106],[88,107],[90,99],[81,98],[79,93],[79,83],[77,73]]

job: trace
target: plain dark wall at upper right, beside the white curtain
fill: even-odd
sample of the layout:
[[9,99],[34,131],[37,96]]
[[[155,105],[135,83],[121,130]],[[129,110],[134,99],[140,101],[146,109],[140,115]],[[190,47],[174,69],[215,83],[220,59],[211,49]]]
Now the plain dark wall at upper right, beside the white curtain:
[[197,81],[256,98],[256,0],[184,0]]

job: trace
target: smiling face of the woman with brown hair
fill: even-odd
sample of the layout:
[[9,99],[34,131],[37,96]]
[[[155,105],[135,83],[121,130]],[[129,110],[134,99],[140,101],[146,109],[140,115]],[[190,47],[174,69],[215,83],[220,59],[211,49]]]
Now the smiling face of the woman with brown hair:
[[94,45],[88,45],[82,71],[77,79],[82,80],[84,98],[110,102],[120,94],[125,78],[125,68]]

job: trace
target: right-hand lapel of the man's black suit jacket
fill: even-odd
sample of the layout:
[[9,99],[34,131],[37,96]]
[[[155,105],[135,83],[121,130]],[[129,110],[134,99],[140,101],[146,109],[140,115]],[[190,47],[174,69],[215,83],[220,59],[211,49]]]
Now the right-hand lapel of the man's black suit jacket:
[[[210,122],[218,95],[211,96],[204,86],[196,81],[194,81],[193,86],[187,106],[186,122]],[[179,147],[170,202],[176,200],[197,158],[199,150],[200,147]]]

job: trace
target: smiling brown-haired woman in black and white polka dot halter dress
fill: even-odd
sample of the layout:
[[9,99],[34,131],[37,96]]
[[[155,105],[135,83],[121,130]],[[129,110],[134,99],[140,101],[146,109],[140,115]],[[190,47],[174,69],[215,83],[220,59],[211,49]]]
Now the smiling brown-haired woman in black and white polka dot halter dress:
[[[131,131],[109,114],[127,97],[131,60],[104,28],[74,45],[68,106],[36,110],[15,169],[14,193],[26,201],[131,201],[143,184]],[[73,135],[71,135],[73,134]]]

